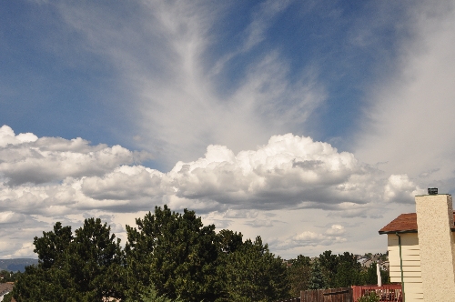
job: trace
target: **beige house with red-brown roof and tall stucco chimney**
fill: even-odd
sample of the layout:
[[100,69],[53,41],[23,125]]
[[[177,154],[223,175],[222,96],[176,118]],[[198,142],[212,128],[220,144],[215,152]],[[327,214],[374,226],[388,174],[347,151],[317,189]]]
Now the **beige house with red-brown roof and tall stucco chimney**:
[[416,196],[416,213],[401,214],[387,234],[391,282],[400,282],[405,300],[455,300],[455,225],[452,197]]

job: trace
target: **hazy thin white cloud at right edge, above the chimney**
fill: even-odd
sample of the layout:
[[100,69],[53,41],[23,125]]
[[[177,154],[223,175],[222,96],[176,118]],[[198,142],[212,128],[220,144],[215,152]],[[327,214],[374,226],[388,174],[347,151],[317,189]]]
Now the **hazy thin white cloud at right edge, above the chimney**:
[[389,174],[406,173],[421,187],[449,193],[455,188],[445,181],[455,170],[455,6],[420,3],[409,16],[410,35],[401,41],[395,69],[370,89],[369,120],[355,154],[369,163],[387,162],[381,168]]

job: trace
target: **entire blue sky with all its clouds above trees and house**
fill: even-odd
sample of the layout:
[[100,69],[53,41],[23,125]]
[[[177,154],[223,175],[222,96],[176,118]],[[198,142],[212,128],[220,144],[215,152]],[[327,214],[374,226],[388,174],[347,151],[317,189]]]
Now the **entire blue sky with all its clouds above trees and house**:
[[283,258],[385,253],[455,192],[454,1],[0,5],[0,258],[164,205]]

